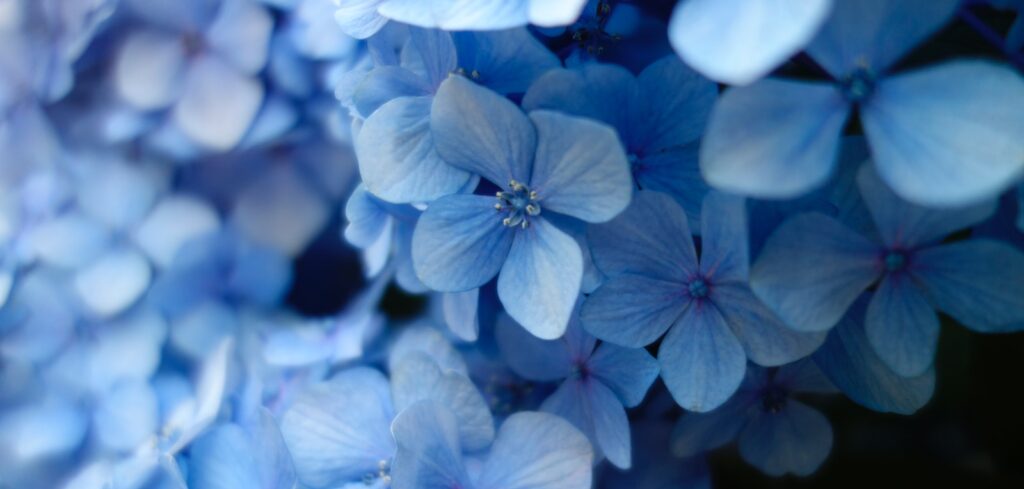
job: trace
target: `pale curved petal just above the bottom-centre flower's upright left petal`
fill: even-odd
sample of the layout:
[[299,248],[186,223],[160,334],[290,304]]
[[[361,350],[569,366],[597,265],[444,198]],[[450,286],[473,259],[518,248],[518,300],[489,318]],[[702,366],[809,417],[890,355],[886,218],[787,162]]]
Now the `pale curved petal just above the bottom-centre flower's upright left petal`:
[[398,360],[391,371],[391,395],[395,410],[423,400],[436,401],[452,410],[459,419],[460,445],[467,451],[486,448],[495,439],[495,420],[490,407],[466,375],[441,371],[434,360],[416,353]]

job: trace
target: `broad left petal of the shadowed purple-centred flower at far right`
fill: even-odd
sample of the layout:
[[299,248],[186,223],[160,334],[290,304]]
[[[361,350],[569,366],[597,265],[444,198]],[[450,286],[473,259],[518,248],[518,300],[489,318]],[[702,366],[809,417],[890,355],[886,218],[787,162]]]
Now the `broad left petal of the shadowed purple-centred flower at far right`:
[[828,329],[881,274],[879,253],[839,221],[802,214],[768,238],[751,288],[790,327]]

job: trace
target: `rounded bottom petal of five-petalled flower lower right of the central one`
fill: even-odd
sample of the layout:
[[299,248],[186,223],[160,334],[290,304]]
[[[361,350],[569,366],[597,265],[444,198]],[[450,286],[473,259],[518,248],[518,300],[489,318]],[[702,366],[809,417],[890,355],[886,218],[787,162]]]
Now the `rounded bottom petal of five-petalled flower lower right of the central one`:
[[683,408],[706,412],[722,405],[743,381],[746,355],[711,304],[691,304],[658,347],[662,380]]

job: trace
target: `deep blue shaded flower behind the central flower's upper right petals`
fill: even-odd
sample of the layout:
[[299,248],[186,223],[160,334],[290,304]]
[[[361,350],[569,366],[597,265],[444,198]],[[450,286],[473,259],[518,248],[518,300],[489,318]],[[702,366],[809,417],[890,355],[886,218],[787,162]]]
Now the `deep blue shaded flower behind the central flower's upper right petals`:
[[526,110],[546,108],[587,117],[618,132],[637,188],[666,192],[697,223],[708,185],[697,148],[717,97],[715,84],[676,56],[662,58],[639,76],[615,64],[588,63],[554,70],[523,97]]

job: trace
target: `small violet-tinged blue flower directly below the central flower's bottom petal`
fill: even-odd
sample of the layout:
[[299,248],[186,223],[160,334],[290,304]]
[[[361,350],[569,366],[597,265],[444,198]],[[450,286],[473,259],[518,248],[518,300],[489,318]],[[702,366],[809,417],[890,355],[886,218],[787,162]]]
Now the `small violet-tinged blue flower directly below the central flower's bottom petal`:
[[509,366],[524,379],[560,382],[541,410],[571,423],[615,466],[632,464],[630,425],[624,407],[636,407],[657,379],[657,362],[641,348],[597,345],[575,314],[565,335],[544,341],[518,324],[499,320],[495,335]]

